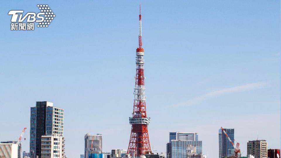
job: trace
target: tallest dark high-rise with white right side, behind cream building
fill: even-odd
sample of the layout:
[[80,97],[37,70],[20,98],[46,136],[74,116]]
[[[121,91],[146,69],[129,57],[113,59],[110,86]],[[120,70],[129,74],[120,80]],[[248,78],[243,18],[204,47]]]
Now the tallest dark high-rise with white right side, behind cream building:
[[41,140],[44,135],[64,135],[64,109],[52,102],[36,102],[30,108],[30,156],[41,158]]

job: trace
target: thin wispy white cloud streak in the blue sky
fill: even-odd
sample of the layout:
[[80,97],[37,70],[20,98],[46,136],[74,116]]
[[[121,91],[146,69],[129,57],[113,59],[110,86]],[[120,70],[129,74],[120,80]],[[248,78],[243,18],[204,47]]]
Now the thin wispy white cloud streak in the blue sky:
[[237,93],[237,92],[244,92],[244,91],[260,89],[260,88],[263,88],[266,84],[267,83],[265,83],[265,82],[257,82],[257,83],[249,83],[249,84],[245,84],[245,85],[225,88],[225,89],[221,89],[221,90],[215,90],[213,92],[208,92],[206,94],[203,94],[199,97],[189,99],[186,102],[175,104],[174,106],[175,107],[190,106],[190,105],[194,105],[194,104],[203,102],[204,100],[207,100],[209,98],[218,97],[218,96],[229,94],[229,93]]

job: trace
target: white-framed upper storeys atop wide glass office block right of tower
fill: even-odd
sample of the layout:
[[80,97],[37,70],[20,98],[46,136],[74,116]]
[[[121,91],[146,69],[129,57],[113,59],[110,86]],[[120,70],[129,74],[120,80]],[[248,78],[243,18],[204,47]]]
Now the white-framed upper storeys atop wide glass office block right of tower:
[[171,140],[193,140],[198,141],[198,133],[190,132],[170,132],[169,133],[169,142]]

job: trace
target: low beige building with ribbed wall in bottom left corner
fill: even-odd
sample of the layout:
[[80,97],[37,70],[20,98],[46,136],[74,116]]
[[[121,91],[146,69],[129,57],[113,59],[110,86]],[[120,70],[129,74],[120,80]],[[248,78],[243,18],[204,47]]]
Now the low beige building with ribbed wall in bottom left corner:
[[15,143],[0,143],[1,158],[18,158],[18,145]]

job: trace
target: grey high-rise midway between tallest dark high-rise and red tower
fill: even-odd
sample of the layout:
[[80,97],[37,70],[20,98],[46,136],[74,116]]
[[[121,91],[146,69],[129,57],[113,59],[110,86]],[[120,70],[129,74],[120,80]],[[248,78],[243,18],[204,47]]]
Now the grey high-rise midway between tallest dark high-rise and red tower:
[[102,134],[91,135],[85,134],[85,157],[89,157],[90,153],[102,153]]

